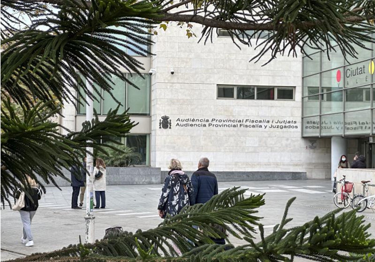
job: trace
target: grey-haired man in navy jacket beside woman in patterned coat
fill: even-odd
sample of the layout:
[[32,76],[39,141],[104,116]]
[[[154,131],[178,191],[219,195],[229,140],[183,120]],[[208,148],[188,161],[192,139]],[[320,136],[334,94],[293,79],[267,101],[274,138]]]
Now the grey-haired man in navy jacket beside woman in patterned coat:
[[212,196],[217,195],[217,179],[216,176],[208,171],[210,160],[204,157],[199,159],[198,170],[195,171],[191,177],[191,183],[194,188],[195,202],[192,204],[205,203],[211,199]]

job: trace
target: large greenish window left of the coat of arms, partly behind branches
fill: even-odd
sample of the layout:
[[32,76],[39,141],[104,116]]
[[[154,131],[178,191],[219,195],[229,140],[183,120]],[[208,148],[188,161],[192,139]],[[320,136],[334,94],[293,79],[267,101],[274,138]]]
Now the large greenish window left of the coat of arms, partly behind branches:
[[[127,79],[138,86],[139,89],[116,76],[112,77],[111,80],[114,84],[112,85],[113,89],[111,92],[121,103],[118,111],[119,114],[129,108],[128,113],[130,115],[150,115],[150,75],[142,74],[142,76],[144,78],[135,73],[133,73],[132,76],[130,74],[127,74],[126,76]],[[94,109],[98,115],[107,115],[110,109],[114,110],[118,105],[118,103],[106,91],[102,91],[102,100],[98,94],[95,94],[95,97],[99,100],[94,100]],[[81,101],[84,103],[82,98]],[[78,114],[86,114],[86,103],[83,105],[78,104]]]

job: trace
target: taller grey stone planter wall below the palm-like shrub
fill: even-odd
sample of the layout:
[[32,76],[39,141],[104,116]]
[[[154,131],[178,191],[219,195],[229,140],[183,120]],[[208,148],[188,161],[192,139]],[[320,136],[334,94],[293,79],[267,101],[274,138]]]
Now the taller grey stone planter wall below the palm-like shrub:
[[[148,185],[160,184],[160,168],[157,167],[107,167],[107,185]],[[63,170],[65,177],[70,179],[70,171]],[[58,186],[70,186],[70,182],[57,177]],[[44,183],[43,183],[44,184]],[[44,184],[45,185],[45,184]],[[54,186],[48,184],[45,186]]]

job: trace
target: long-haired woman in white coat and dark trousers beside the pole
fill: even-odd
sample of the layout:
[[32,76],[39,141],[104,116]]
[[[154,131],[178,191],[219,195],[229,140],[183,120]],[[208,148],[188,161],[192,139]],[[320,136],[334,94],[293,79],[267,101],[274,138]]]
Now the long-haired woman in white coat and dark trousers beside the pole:
[[[106,173],[105,173],[105,164],[103,159],[97,158],[95,161],[94,167],[94,191],[95,191],[95,199],[96,199],[96,206],[94,208],[105,208],[105,188],[106,188]],[[102,204],[100,203],[100,199],[102,199]]]

